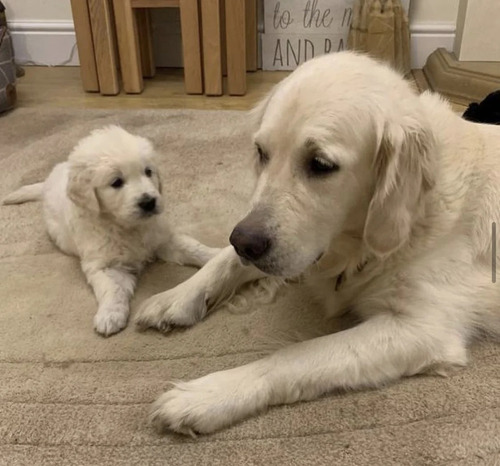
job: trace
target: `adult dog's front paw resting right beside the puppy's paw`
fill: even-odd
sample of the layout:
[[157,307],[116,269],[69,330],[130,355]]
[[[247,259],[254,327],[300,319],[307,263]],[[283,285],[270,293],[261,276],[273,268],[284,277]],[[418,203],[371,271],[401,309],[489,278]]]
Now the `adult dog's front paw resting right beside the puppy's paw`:
[[190,327],[207,313],[205,295],[204,290],[179,285],[144,301],[135,323],[140,329],[156,328],[162,332]]

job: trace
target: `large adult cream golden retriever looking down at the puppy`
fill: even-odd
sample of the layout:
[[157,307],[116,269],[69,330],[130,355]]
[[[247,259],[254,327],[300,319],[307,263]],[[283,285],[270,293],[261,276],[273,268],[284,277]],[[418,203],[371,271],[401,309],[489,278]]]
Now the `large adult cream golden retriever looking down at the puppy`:
[[303,273],[330,314],[360,323],[175,384],[154,405],[158,427],[209,433],[270,405],[443,373],[500,332],[500,128],[349,52],[299,67],[254,116],[258,181],[234,248],[147,300],[138,323],[194,323],[200,293],[210,307],[264,274]]

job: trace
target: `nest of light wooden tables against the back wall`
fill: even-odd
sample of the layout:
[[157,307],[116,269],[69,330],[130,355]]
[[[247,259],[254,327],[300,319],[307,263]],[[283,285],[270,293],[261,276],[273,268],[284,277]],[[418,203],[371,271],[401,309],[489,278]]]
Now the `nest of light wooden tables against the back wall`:
[[257,70],[257,0],[71,0],[71,6],[88,92],[119,93],[118,63],[126,93],[141,93],[143,78],[155,75],[150,8],[180,8],[188,94],[222,95],[227,75],[228,93],[244,95],[246,71]]

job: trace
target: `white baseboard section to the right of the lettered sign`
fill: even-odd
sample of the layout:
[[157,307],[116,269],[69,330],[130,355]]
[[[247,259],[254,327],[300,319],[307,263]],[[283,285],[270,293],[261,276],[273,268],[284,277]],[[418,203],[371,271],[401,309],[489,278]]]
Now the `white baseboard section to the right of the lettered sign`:
[[424,67],[427,57],[443,47],[453,51],[455,23],[420,23],[410,26],[410,50],[412,69]]

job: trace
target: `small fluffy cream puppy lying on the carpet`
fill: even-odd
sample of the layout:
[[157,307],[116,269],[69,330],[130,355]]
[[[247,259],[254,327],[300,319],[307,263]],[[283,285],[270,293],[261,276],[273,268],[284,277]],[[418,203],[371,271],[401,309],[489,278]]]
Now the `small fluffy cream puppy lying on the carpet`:
[[99,308],[95,330],[108,336],[127,325],[129,300],[146,262],[202,266],[219,249],[170,230],[152,144],[117,126],[92,132],[43,183],[24,186],[4,204],[43,200],[50,237],[81,259]]

